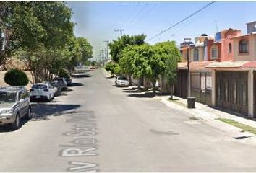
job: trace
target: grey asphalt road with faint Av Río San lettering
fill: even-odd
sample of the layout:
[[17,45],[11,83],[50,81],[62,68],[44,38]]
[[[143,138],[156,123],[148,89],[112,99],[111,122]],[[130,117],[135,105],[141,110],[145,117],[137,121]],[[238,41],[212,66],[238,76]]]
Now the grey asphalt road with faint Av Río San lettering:
[[0,172],[255,172],[256,148],[190,120],[103,70],[33,104],[20,130],[0,128]]

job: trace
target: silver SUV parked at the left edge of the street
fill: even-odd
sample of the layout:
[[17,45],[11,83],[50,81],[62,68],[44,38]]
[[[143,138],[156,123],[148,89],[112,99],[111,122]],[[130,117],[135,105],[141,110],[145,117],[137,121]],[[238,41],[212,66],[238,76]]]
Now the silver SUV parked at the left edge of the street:
[[30,96],[24,86],[0,87],[0,125],[20,128],[20,118],[31,117]]

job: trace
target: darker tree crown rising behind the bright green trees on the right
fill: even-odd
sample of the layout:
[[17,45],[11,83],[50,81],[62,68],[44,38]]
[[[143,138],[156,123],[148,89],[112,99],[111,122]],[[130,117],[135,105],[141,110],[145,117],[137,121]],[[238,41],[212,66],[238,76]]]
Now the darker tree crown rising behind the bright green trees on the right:
[[146,35],[123,35],[109,43],[110,54],[113,60],[119,62],[119,56],[122,50],[129,45],[142,45],[145,43]]

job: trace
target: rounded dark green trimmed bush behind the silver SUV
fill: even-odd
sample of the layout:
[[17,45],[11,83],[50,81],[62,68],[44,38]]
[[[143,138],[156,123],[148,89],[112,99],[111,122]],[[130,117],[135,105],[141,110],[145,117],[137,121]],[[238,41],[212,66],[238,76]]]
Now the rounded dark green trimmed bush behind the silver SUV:
[[11,69],[4,75],[5,83],[11,86],[26,86],[28,84],[27,74],[20,69]]

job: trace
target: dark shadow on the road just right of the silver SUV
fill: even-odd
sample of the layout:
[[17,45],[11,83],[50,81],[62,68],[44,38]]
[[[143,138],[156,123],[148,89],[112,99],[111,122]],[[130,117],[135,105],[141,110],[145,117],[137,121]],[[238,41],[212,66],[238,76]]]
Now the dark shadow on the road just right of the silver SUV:
[[63,105],[63,104],[44,104],[38,103],[32,105],[32,119],[33,121],[38,120],[49,120],[49,116],[61,116],[71,111],[75,111],[80,108],[81,105]]

